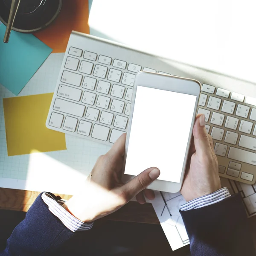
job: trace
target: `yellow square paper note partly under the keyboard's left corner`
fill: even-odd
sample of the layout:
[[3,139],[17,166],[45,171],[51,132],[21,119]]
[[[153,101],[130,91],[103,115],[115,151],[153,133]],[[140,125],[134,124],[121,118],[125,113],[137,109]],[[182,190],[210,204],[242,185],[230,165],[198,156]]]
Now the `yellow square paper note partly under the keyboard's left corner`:
[[45,126],[52,95],[3,99],[8,156],[67,149],[65,134]]

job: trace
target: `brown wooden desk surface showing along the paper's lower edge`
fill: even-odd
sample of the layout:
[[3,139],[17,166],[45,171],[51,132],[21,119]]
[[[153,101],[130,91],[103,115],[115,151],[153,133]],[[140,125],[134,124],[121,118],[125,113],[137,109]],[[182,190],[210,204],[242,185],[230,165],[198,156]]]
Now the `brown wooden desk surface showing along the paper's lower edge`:
[[[39,194],[40,192],[35,191],[0,188],[0,209],[27,212]],[[55,195],[59,195],[61,198],[67,200],[71,198],[71,195]],[[118,211],[108,215],[107,218],[115,221],[132,221],[140,223],[160,224],[152,204],[149,203],[140,205],[137,202],[129,202]],[[256,216],[249,218],[249,224],[256,248]]]

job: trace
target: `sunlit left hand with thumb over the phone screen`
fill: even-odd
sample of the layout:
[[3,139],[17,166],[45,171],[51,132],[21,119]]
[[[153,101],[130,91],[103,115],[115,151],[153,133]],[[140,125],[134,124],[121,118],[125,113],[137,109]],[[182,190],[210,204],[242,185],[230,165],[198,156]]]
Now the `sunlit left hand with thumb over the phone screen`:
[[122,134],[110,151],[98,158],[81,192],[64,204],[81,221],[92,222],[115,212],[134,196],[143,204],[143,192],[148,199],[154,199],[154,192],[145,188],[160,175],[159,169],[148,168],[126,184],[121,181],[125,138]]

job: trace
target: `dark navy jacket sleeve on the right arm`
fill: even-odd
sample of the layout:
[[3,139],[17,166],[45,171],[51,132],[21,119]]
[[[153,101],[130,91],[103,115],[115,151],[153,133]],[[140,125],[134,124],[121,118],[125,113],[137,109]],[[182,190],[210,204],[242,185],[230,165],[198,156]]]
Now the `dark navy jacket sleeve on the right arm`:
[[180,214],[192,256],[256,255],[240,194]]

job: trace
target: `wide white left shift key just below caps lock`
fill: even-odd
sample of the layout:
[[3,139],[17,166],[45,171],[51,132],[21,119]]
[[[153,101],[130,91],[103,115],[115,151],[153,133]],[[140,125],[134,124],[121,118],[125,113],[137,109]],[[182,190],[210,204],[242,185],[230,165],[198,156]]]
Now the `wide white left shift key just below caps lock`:
[[57,98],[55,99],[53,109],[73,116],[82,117],[84,115],[85,106]]

